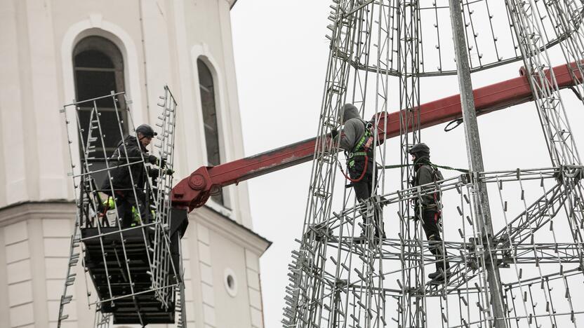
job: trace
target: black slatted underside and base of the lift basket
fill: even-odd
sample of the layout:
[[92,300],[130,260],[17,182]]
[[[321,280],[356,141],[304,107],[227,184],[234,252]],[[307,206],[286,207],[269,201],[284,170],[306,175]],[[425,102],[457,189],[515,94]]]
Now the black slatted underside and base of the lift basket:
[[[170,253],[173,269],[166,272],[171,284],[182,282],[179,275],[180,238],[187,226],[187,213],[171,211]],[[119,233],[117,227],[81,228],[84,242],[84,266],[91,277],[98,298],[114,299],[101,304],[102,313],[112,313],[114,324],[171,324],[175,323],[174,297],[168,303],[160,301],[152,289],[149,252],[154,250],[155,233],[140,228],[127,228]],[[145,247],[147,245],[147,247]],[[124,264],[125,259],[127,262]],[[128,276],[128,272],[129,275]],[[171,289],[171,293],[174,290]],[[128,295],[133,295],[129,297]]]

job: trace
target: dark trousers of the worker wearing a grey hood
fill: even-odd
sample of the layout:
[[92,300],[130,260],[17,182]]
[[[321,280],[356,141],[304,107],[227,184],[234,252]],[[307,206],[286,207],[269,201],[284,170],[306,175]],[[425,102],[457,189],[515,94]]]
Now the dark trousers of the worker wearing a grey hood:
[[[359,182],[351,182],[353,189],[355,191],[355,196],[357,196],[357,200],[359,203],[366,205],[366,200],[371,198],[374,194],[373,186],[376,184],[377,181],[377,172],[375,176],[373,176],[373,158],[369,158],[369,163],[367,164],[366,172],[363,175],[363,178],[359,180]],[[352,168],[349,168],[349,176],[351,179],[359,179],[361,174],[363,174],[363,170],[365,167],[365,158],[357,158],[354,161],[354,165]],[[383,213],[381,212],[381,208],[379,205],[375,205],[375,212],[373,217],[375,218],[375,235],[376,237],[383,236],[385,238],[385,231],[383,229]],[[363,217],[363,223],[369,224],[369,219],[367,219],[367,215],[361,214]]]

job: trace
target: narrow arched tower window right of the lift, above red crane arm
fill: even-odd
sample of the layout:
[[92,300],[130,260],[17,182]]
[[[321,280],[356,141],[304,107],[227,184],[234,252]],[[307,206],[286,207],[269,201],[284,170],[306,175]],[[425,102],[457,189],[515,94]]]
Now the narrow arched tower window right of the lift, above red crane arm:
[[[203,109],[203,123],[205,125],[205,143],[208,165],[221,163],[219,149],[219,129],[217,125],[217,107],[215,105],[215,86],[213,75],[203,60],[197,60],[199,68],[199,89],[201,90],[201,107]],[[224,205],[223,193],[211,196],[215,203]]]

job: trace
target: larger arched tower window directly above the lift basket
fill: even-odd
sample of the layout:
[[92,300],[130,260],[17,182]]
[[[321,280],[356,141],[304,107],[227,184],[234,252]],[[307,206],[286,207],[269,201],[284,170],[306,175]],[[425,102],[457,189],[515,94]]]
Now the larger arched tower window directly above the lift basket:
[[[73,50],[73,67],[75,78],[75,97],[77,101],[109,95],[112,91],[124,91],[124,57],[119,48],[110,40],[101,36],[88,36],[81,39]],[[119,124],[123,133],[127,132],[124,97],[118,98],[119,119],[112,98],[104,98],[95,102],[100,111],[100,123],[104,137],[105,150],[110,156],[117,143],[123,137],[119,132]],[[84,128],[84,139],[87,137],[89,119],[93,102],[86,102],[79,109],[79,123]],[[97,149],[98,157],[102,149]]]

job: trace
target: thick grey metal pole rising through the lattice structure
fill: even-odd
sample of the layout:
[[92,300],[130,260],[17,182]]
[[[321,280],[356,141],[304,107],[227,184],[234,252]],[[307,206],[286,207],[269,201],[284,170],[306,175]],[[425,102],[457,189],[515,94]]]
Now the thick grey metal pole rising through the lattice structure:
[[[458,74],[458,87],[460,88],[460,104],[463,109],[463,122],[465,127],[465,139],[467,147],[468,165],[470,174],[484,172],[481,141],[479,138],[479,126],[477,124],[477,112],[475,111],[475,97],[472,95],[472,81],[470,80],[470,67],[467,57],[467,44],[465,40],[465,26],[461,15],[460,0],[449,0],[450,18],[454,49],[456,52],[456,71]],[[493,226],[491,224],[491,209],[489,208],[489,195],[486,184],[473,179],[475,189],[475,217],[479,225],[479,231],[483,235],[485,252],[485,270],[491,298],[493,323],[495,327],[505,327],[505,304],[500,285],[500,273],[496,264],[496,258],[491,254],[491,241]]]

